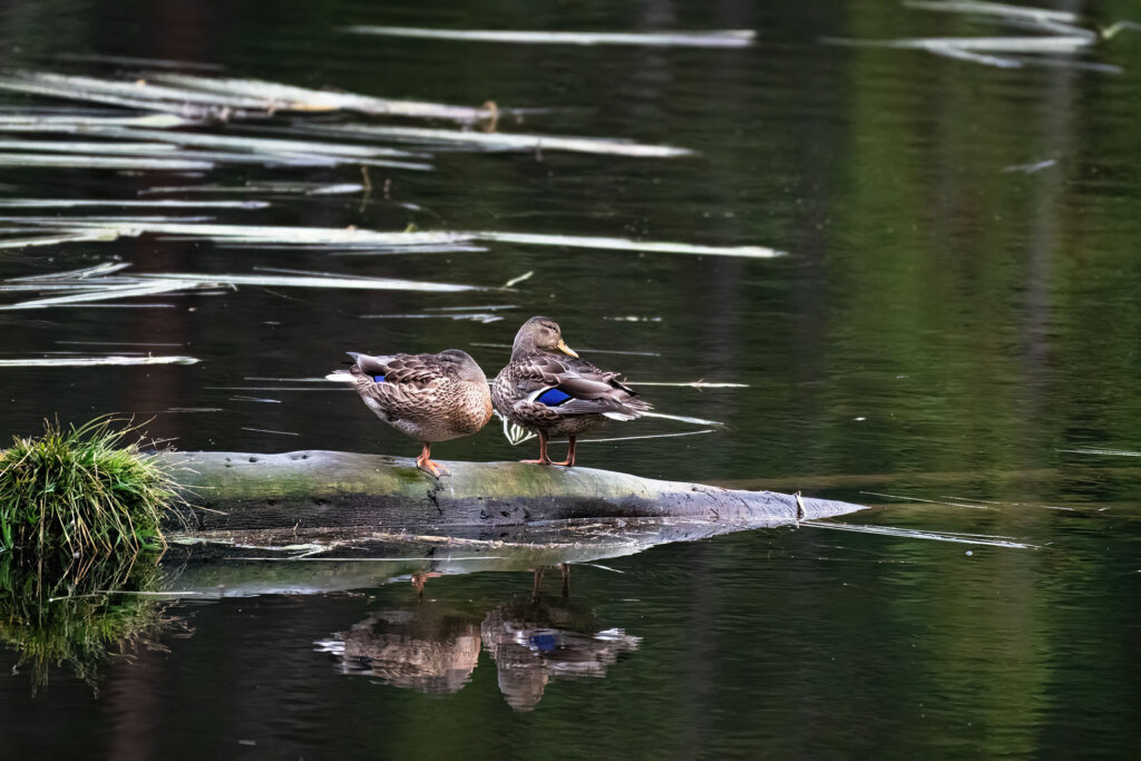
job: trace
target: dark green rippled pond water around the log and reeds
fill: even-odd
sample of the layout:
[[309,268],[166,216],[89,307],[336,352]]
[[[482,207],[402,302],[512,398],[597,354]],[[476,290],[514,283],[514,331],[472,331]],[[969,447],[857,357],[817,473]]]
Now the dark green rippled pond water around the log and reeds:
[[[1136,13],[1124,1],[1060,5],[1107,23]],[[748,27],[759,40],[744,50],[497,46],[338,32],[349,23]],[[1081,57],[1119,74],[819,42],[994,33],[1003,32],[873,1],[0,3],[7,66],[114,71],[59,58],[89,52],[207,62],[307,87],[551,107],[504,129],[699,152],[438,154],[431,173],[391,172],[389,201],[282,196],[265,211],[211,212],[221,222],[790,252],[744,260],[492,244],[338,257],[153,236],[6,250],[2,277],[112,257],[156,273],[268,266],[480,285],[534,276],[491,300],[241,288],[147,300],[173,308],[7,311],[3,357],[169,343],[140,350],[202,362],[2,369],[0,430],[118,411],[154,415],[149,432],[185,450],[411,455],[414,443],[343,392],[230,387],[318,377],[347,349],[459,347],[495,372],[505,351],[479,345],[509,342],[521,319],[548,314],[573,347],[654,353],[585,353],[633,380],[748,384],[647,388],[661,411],[729,428],[584,444],[585,464],[802,489],[876,505],[852,524],[1033,545],[802,527],[574,566],[567,599],[551,570],[535,601],[532,575],[518,572],[430,578],[423,602],[406,577],[327,596],[176,602],[165,615],[180,623],[152,638],[169,651],[143,648],[90,681],[55,669],[34,696],[27,667],[0,681],[0,756],[1135,756],[1139,38],[1123,33]],[[205,178],[6,169],[0,193],[133,197],[161,185],[359,177],[353,167]],[[488,324],[359,317],[483,303],[517,309]],[[610,435],[686,430],[695,429],[640,421]],[[520,452],[495,426],[435,451]],[[615,629],[624,633],[597,635]],[[371,666],[315,651],[339,632]]]

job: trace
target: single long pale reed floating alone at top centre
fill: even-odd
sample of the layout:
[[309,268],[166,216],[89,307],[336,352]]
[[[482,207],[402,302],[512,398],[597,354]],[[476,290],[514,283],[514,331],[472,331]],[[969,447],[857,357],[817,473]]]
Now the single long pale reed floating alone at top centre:
[[353,34],[379,34],[421,40],[460,40],[471,42],[512,42],[521,44],[628,44],[655,48],[747,48],[753,44],[753,30],[714,30],[709,32],[521,32],[508,30],[447,30],[414,26],[346,26]]

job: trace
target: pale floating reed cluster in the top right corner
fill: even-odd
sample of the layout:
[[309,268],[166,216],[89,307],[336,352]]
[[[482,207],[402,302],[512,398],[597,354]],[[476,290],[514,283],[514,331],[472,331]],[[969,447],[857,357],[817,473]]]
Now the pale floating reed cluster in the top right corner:
[[1109,39],[1126,29],[1141,29],[1134,22],[1118,22],[1106,30],[1078,26],[1077,14],[1065,10],[1046,10],[998,2],[976,1],[928,1],[914,0],[904,3],[908,8],[942,13],[956,13],[980,18],[992,18],[1008,26],[1025,29],[1035,34],[1020,37],[952,37],[907,38],[899,40],[858,40],[824,38],[827,44],[849,47],[895,48],[925,50],[946,58],[955,58],[998,68],[1021,68],[1027,64],[1068,65],[1091,71],[1119,73],[1118,66],[1109,64],[1070,62],[1049,55],[1073,56],[1092,48],[1100,40]]

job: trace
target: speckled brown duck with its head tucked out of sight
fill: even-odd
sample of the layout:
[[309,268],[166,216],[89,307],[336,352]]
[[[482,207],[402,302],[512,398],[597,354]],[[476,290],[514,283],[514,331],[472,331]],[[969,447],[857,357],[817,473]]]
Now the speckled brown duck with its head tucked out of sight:
[[439,478],[447,469],[432,462],[432,442],[475,434],[492,416],[487,377],[467,351],[391,354],[356,351],[349,369],[356,392],[377,416],[423,442],[416,465]]

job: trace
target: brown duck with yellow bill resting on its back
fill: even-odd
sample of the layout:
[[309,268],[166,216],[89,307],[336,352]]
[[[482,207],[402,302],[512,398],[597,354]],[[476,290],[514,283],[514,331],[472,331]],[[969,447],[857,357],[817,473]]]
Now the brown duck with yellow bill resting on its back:
[[[633,420],[648,412],[649,405],[636,396],[618,381],[618,373],[580,359],[549,317],[532,317],[523,324],[511,347],[511,362],[492,383],[499,413],[539,434],[539,460],[524,462],[542,465],[574,465],[575,438],[584,430],[607,418]],[[566,462],[551,462],[547,442],[564,437],[570,444]]]

